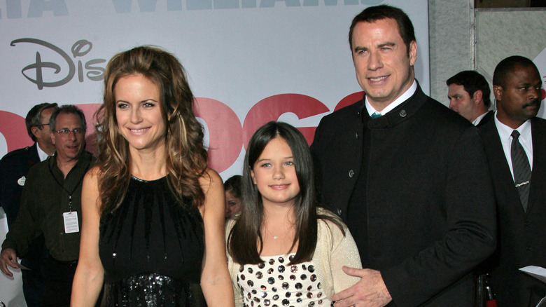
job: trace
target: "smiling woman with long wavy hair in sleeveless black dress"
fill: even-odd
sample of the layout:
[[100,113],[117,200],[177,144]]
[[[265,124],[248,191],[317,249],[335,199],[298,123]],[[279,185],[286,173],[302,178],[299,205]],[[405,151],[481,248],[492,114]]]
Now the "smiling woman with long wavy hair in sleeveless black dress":
[[94,306],[104,283],[102,306],[231,306],[223,183],[182,65],[133,48],[110,60],[104,85],[72,305]]

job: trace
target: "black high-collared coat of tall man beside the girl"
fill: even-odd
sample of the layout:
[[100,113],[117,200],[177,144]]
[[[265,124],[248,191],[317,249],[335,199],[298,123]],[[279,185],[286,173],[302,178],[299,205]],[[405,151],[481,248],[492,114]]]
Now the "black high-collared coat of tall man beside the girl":
[[[364,135],[367,173],[360,172]],[[473,305],[472,270],[495,249],[496,212],[482,139],[470,122],[418,87],[376,119],[364,100],[325,116],[311,153],[323,205],[344,221],[364,176],[369,252],[360,258],[381,271],[389,306]]]

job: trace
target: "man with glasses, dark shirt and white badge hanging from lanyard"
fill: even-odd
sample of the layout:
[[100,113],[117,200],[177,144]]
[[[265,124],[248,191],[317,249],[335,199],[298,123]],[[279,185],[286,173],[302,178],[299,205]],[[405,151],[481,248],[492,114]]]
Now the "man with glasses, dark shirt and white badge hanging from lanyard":
[[25,256],[28,242],[43,233],[50,257],[45,260],[43,306],[69,306],[72,279],[78,263],[83,176],[95,158],[85,147],[85,116],[73,105],[55,109],[50,137],[55,155],[29,170],[20,212],[0,254],[0,270],[13,274],[17,256]]

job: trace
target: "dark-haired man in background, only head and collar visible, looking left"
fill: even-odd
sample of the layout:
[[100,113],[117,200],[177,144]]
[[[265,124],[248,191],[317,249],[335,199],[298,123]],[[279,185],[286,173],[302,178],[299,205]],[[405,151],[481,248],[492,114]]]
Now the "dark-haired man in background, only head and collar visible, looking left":
[[458,72],[445,82],[449,109],[461,114],[473,125],[483,125],[493,117],[491,90],[484,76],[475,70]]

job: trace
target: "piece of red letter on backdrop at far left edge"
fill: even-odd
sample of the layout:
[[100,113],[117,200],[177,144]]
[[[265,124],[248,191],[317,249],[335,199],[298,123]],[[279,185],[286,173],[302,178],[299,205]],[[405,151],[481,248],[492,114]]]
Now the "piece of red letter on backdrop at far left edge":
[[32,144],[32,139],[27,134],[25,118],[18,114],[0,111],[0,133],[6,139],[8,152]]

